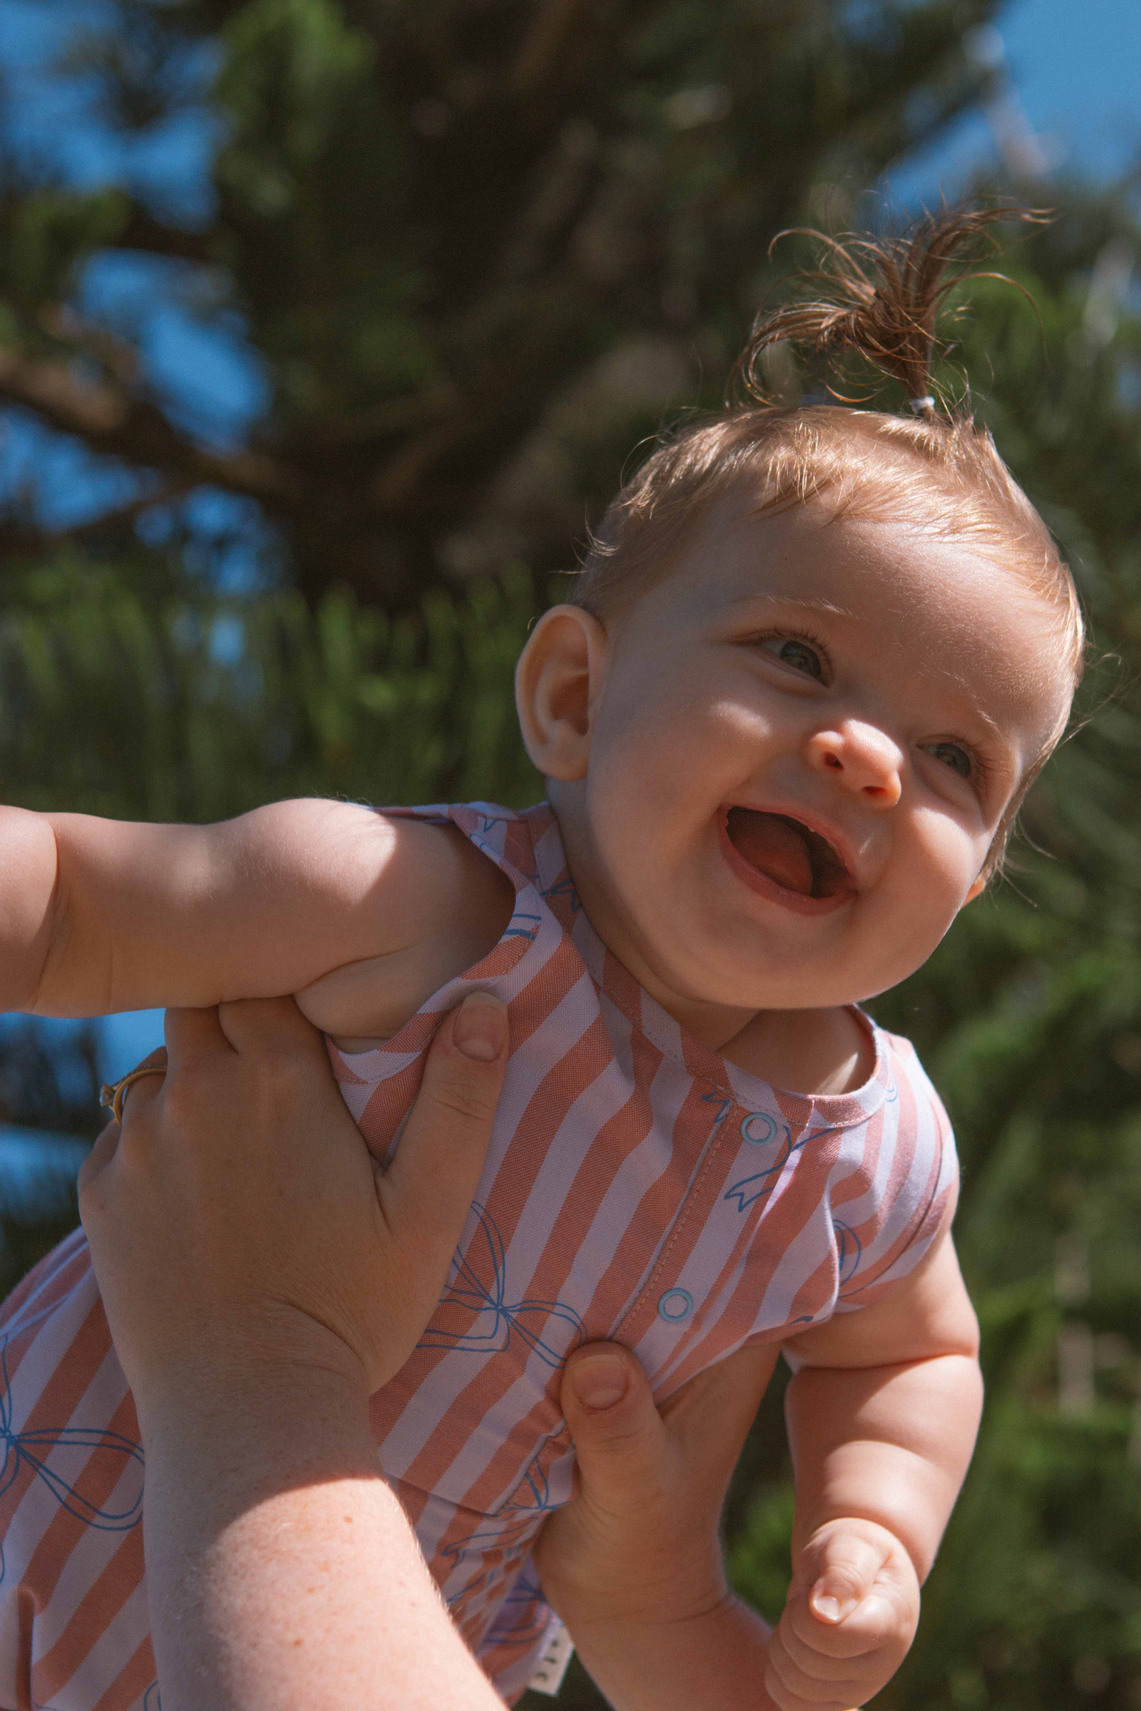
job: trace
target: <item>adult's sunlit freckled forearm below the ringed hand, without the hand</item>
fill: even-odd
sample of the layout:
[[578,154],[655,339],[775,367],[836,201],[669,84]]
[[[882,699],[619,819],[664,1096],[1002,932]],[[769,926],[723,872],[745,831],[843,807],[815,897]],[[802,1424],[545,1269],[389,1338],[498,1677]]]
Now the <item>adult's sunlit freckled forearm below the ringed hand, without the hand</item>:
[[359,1388],[284,1372],[228,1396],[214,1376],[145,1444],[164,1711],[501,1711],[376,1471]]

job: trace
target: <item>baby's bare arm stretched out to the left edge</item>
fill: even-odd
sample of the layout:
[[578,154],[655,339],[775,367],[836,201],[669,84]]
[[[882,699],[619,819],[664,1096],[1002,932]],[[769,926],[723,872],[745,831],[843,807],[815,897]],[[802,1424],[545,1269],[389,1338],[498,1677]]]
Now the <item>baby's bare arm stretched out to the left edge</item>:
[[[275,802],[209,826],[0,808],[0,1009],[84,1016],[296,992],[318,1025],[385,1033],[441,984],[436,965],[446,979],[494,944],[503,886],[453,828],[351,802]],[[387,1008],[322,989],[375,958]]]

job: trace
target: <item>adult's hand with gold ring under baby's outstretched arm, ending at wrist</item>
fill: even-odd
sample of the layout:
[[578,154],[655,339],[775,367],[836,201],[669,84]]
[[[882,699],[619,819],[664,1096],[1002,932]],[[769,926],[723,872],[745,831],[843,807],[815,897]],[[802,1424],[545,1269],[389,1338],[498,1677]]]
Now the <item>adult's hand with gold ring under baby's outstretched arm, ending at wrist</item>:
[[84,1163],[80,1215],[115,1348],[147,1410],[188,1371],[282,1359],[380,1389],[436,1305],[506,1063],[484,992],[440,1027],[387,1172],[293,999],[168,1011],[164,1076],[127,1093]]

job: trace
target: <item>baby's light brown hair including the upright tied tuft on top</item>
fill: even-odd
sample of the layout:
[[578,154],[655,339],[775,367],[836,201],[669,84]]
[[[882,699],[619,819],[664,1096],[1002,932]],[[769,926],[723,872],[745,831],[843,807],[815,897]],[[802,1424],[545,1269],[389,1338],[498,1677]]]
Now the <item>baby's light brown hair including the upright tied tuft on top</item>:
[[[659,445],[592,534],[571,602],[602,619],[624,611],[671,573],[722,498],[748,496],[756,517],[818,501],[831,520],[898,518],[943,539],[968,539],[1018,575],[1055,609],[1057,672],[1073,695],[1085,623],[1069,566],[990,435],[968,411],[932,397],[948,293],[970,277],[1002,277],[977,269],[980,240],[997,221],[1043,219],[1035,209],[958,209],[927,216],[895,240],[814,233],[821,267],[794,275],[794,298],[758,318],[736,364],[749,402],[729,404]],[[770,402],[760,366],[777,344],[811,346],[833,363],[864,358],[902,383],[907,414]],[[1018,808],[1064,729],[1062,719],[1008,806],[987,874],[999,871]]]

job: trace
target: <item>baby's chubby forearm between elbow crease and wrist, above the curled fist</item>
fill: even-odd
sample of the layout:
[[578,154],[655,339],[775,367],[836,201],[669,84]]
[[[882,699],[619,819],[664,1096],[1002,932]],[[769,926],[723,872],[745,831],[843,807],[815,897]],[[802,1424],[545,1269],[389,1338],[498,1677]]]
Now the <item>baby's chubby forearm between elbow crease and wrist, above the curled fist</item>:
[[982,1376],[970,1355],[900,1365],[804,1367],[785,1415],[795,1463],[794,1550],[837,1518],[872,1521],[907,1548],[920,1581],[970,1463]]

